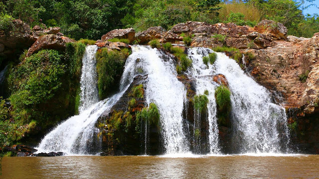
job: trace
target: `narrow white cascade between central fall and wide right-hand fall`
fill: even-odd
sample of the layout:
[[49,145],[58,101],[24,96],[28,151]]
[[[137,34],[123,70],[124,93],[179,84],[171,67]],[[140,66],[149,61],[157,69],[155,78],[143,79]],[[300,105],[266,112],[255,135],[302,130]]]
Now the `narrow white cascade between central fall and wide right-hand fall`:
[[189,69],[186,74],[195,78],[197,94],[203,94],[205,90],[208,90],[209,152],[211,154],[218,154],[220,149],[218,146],[218,125],[214,96],[216,84],[213,83],[211,79],[211,76],[213,75],[213,65],[209,64],[206,66],[202,61],[202,58],[208,56],[209,53],[212,53],[212,50],[208,48],[189,48],[187,54],[193,63],[192,68]]

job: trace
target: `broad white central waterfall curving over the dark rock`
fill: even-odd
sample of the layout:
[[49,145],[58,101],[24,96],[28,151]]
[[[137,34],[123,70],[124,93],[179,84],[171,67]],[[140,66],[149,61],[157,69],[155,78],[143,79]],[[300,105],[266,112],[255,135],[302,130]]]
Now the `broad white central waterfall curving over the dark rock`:
[[160,110],[160,123],[166,154],[188,152],[182,127],[184,86],[176,78],[173,60],[159,50],[133,46],[122,78],[122,89],[137,74],[148,74],[147,103],[155,102]]

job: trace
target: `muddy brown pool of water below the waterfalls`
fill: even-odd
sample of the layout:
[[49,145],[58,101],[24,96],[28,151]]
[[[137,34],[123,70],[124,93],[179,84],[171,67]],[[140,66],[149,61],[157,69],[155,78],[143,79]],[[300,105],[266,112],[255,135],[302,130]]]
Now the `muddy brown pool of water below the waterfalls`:
[[0,179],[318,179],[319,155],[5,157]]

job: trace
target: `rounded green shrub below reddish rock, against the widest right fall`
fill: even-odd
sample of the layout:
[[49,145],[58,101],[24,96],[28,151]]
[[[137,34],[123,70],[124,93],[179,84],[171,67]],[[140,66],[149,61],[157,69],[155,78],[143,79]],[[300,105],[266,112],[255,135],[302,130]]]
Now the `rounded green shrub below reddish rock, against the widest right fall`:
[[231,109],[230,91],[227,87],[221,85],[215,90],[215,98],[218,111],[229,112]]

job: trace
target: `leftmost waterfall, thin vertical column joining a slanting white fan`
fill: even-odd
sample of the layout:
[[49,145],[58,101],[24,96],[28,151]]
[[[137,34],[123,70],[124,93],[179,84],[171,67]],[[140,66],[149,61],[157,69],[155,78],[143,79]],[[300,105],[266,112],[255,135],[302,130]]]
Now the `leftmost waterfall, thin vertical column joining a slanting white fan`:
[[97,46],[87,46],[82,59],[80,114],[70,117],[48,133],[37,147],[38,153],[53,151],[74,155],[100,152],[95,123],[102,112],[111,109],[125,90],[98,102],[96,51]]

